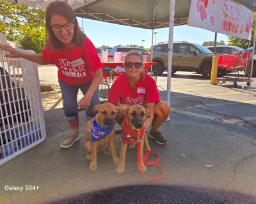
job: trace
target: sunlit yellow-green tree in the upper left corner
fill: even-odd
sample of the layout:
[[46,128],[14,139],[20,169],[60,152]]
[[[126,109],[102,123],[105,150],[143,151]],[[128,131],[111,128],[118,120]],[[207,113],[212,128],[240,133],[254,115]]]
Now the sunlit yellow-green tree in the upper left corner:
[[0,0],[0,32],[20,48],[42,52],[45,47],[45,11]]

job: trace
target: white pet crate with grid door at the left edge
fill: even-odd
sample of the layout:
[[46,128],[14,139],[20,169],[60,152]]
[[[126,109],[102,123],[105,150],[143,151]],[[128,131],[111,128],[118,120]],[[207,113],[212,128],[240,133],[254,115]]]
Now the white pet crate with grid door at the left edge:
[[4,54],[0,50],[0,164],[43,142],[46,136],[36,63]]

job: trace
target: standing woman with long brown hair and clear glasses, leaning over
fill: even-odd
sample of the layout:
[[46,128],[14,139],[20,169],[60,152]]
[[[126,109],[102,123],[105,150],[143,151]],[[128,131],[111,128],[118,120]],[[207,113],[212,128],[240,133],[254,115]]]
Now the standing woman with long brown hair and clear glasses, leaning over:
[[45,14],[47,44],[42,54],[24,54],[9,45],[0,48],[10,52],[6,57],[22,57],[39,64],[56,64],[63,97],[65,118],[71,133],[61,142],[68,148],[80,139],[77,92],[84,96],[79,108],[87,108],[86,119],[95,116],[93,106],[99,104],[102,63],[92,41],[79,29],[72,8],[65,1],[53,1]]

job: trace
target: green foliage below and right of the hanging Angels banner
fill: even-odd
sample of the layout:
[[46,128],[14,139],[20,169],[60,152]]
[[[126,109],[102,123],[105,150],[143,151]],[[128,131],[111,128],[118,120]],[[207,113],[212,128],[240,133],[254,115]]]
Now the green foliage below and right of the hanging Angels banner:
[[235,38],[233,36],[228,36],[228,45],[233,45],[241,48],[248,48],[253,46],[253,36],[254,36],[254,27],[255,27],[255,18],[256,15],[253,15],[253,24],[252,24],[252,39],[251,41],[244,40],[241,38]]

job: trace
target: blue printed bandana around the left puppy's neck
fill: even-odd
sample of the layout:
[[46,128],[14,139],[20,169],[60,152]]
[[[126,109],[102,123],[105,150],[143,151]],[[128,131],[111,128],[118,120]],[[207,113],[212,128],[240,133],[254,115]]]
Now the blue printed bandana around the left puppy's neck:
[[92,142],[97,142],[98,140],[103,139],[105,136],[111,133],[113,128],[114,125],[108,128],[101,127],[99,124],[97,124],[96,120],[94,120],[92,126]]

